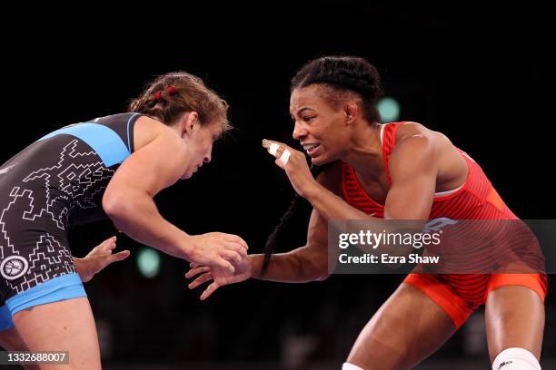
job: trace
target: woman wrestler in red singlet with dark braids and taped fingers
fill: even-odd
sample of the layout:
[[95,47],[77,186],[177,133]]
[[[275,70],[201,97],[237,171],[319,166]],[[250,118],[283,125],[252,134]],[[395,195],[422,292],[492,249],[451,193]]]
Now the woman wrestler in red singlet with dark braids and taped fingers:
[[[249,277],[327,277],[331,220],[517,219],[481,167],[442,133],[415,122],[378,123],[380,92],[379,74],[361,58],[323,57],[295,75],[293,138],[325,170],[314,180],[303,152],[277,141],[263,146],[273,145],[276,164],[313,206],[307,244],[268,264],[252,255],[234,274],[194,267],[187,277],[202,275],[190,287],[214,280],[202,299]],[[492,368],[540,369],[546,287],[539,274],[410,274],[362,329],[343,368],[412,368],[485,304]]]

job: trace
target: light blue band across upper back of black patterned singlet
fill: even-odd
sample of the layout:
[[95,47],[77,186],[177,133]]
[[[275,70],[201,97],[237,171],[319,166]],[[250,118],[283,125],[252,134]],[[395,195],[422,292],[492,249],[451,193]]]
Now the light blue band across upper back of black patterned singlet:
[[122,141],[120,136],[114,130],[102,124],[91,122],[77,123],[71,126],[63,127],[60,130],[50,132],[38,141],[63,133],[72,135],[77,139],[86,142],[87,145],[96,151],[106,167],[110,167],[116,163],[122,163],[124,159],[131,154],[124,141]]

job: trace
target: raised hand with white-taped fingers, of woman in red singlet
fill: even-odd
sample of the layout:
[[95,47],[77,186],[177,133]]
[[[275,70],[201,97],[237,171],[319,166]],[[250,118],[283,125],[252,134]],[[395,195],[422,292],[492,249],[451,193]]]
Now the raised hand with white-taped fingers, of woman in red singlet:
[[275,158],[276,165],[285,170],[293,189],[303,198],[306,198],[307,192],[316,184],[313,179],[305,154],[296,151],[283,142],[263,140],[263,148],[271,153]]

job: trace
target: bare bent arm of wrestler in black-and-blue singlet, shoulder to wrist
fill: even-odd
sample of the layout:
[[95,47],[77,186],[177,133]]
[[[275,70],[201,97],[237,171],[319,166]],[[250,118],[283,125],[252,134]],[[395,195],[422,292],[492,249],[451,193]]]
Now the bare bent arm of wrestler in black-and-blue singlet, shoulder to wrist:
[[188,235],[160,215],[153,197],[183,176],[184,161],[180,138],[161,131],[115,171],[103,198],[104,211],[117,229],[178,258],[185,258]]

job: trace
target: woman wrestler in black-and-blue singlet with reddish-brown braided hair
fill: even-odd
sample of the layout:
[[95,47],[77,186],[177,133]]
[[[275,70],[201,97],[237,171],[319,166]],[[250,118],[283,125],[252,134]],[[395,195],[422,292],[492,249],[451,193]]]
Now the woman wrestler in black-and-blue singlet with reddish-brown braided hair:
[[65,350],[74,369],[101,367],[67,240],[75,224],[108,216],[145,245],[233,271],[246,256],[243,239],[188,235],[153,201],[211,161],[227,128],[227,104],[216,93],[189,73],[168,73],[130,112],[51,132],[0,167],[0,306],[30,351]]

